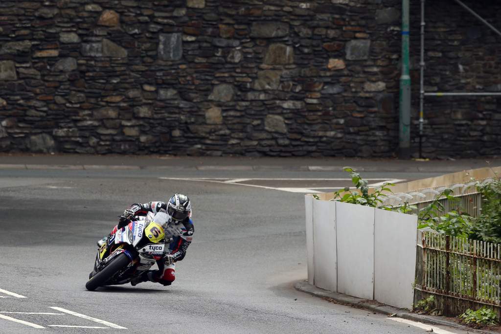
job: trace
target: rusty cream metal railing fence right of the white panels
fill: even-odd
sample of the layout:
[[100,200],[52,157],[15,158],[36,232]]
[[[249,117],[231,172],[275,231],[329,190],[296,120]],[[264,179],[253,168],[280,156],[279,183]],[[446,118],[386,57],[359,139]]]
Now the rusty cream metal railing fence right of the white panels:
[[435,232],[421,235],[414,301],[433,294],[444,315],[488,305],[501,317],[501,244]]

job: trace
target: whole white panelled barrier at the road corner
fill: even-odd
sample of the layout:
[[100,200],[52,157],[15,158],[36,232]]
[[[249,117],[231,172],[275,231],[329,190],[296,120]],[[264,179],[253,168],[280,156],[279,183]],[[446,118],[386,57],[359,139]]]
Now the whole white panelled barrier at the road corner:
[[305,197],[308,281],[412,308],[417,216]]

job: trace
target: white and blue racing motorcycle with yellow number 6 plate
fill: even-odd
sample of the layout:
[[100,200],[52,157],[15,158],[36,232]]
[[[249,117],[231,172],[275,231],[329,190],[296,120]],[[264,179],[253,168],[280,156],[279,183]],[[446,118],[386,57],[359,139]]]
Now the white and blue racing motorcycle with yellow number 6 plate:
[[165,212],[148,213],[107,238],[96,255],[94,270],[85,284],[99,286],[129,283],[169,253],[169,243],[182,234]]

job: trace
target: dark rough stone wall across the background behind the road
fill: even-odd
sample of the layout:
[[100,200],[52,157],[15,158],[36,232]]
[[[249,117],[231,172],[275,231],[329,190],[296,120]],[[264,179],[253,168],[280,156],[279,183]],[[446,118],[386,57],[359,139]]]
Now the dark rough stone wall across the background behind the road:
[[[440,3],[427,4],[427,86],[498,89],[499,38]],[[478,12],[495,23],[499,9]],[[393,156],[400,10],[399,0],[2,0],[0,151]],[[426,156],[499,154],[496,99],[427,102]],[[414,123],[413,152],[416,135]]]

